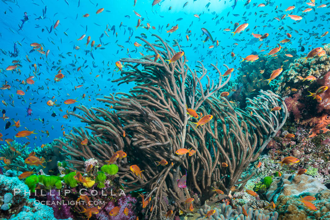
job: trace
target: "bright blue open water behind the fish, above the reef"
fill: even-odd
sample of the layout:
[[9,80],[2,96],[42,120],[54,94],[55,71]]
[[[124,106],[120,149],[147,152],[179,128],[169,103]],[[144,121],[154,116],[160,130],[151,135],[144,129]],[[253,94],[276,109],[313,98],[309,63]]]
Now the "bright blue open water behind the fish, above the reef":
[[[73,111],[75,105],[97,106],[97,97],[102,98],[119,91],[128,92],[132,85],[118,87],[111,80],[120,76],[120,71],[117,71],[115,66],[120,58],[139,58],[142,56],[140,53],[148,54],[143,46],[134,46],[135,41],[143,43],[136,39],[136,36],[143,35],[150,42],[155,39],[151,34],[157,34],[166,41],[178,40],[189,60],[188,64],[194,68],[196,61],[202,61],[210,69],[210,76],[214,80],[217,80],[217,77],[210,68],[210,63],[217,63],[222,71],[226,70],[223,64],[237,69],[241,61],[239,56],[260,54],[258,47],[261,43],[263,45],[260,49],[269,52],[279,41],[287,38],[286,33],[292,35],[291,41],[281,45],[296,48],[298,51],[303,46],[305,53],[329,39],[328,36],[319,38],[329,27],[329,9],[317,6],[326,4],[326,1],[317,0],[315,7],[307,5],[308,1],[253,0],[246,5],[247,1],[238,0],[236,7],[233,7],[235,2],[236,0],[162,0],[152,7],[152,1],[137,0],[133,7],[134,0],[2,0],[0,74],[1,83],[4,85],[7,81],[11,86],[10,89],[0,91],[1,109],[4,109],[5,116],[9,117],[0,120],[3,140],[11,138],[22,144],[30,142],[30,147],[49,143],[54,138],[63,136],[63,131],[69,132],[72,126],[84,125],[72,116],[68,119],[63,118],[67,111]],[[261,3],[265,4],[265,7],[257,7]],[[281,19],[285,14],[284,10],[289,6],[295,8],[288,13],[301,15],[302,20],[297,22],[289,17]],[[104,8],[104,11],[96,14],[101,8]],[[313,9],[302,13],[307,8]],[[19,30],[24,13],[27,13],[28,20],[25,21],[22,30]],[[87,13],[89,16],[83,17]],[[138,19],[142,20],[141,26],[136,28]],[[59,25],[54,29],[57,20]],[[233,36],[231,32],[236,22],[248,23],[248,28]],[[151,26],[149,30],[144,28],[147,23]],[[178,25],[177,31],[166,33],[166,30],[175,25]],[[210,40],[203,43],[206,36],[201,28],[206,28],[211,33],[214,43]],[[226,28],[231,31],[225,31]],[[264,41],[258,41],[252,33],[268,33],[269,37]],[[76,39],[83,34],[86,37],[77,41]],[[189,36],[188,41],[186,35]],[[91,41],[95,41],[95,46],[102,44],[99,48],[94,46],[92,54],[91,42],[85,46],[87,36],[91,37]],[[219,42],[218,46],[216,41]],[[48,58],[32,50],[30,44],[34,42],[42,44],[44,51],[50,50]],[[9,52],[15,53],[15,43],[19,50],[15,51],[18,56],[10,57]],[[211,45],[215,47],[209,48]],[[80,49],[76,49],[77,46]],[[231,57],[231,52],[235,53],[234,58]],[[298,52],[298,55],[302,53]],[[31,62],[27,61],[26,55]],[[17,68],[20,72],[6,70],[8,66],[13,65],[14,60],[20,61],[21,66]],[[35,72],[34,64],[37,67]],[[62,69],[64,78],[55,82],[54,77],[58,73],[58,68]],[[22,84],[21,82],[26,81],[29,76],[34,76],[35,83]],[[75,86],[78,85],[83,86],[75,90]],[[25,95],[17,95],[17,90],[24,91]],[[82,99],[83,94],[86,96]],[[64,104],[66,99],[76,98],[78,102],[75,104]],[[57,105],[48,106],[46,103],[50,99],[56,99]],[[32,115],[26,116],[26,108],[29,106]],[[53,113],[55,117],[52,116]],[[5,129],[8,121],[14,125],[12,120],[20,120],[22,126]],[[15,138],[17,132],[25,130],[24,127],[30,131],[35,130],[37,134],[28,136],[29,140],[25,137]],[[43,133],[46,131],[49,135]]]

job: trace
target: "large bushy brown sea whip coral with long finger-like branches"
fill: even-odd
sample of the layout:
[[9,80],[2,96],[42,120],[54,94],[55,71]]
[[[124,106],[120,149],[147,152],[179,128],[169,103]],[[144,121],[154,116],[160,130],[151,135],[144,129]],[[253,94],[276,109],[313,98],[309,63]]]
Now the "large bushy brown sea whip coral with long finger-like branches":
[[[137,85],[129,94],[116,93],[97,99],[105,107],[112,105],[113,109],[77,106],[84,116],[70,114],[86,123],[87,129],[74,128],[78,134],[66,135],[71,143],[57,140],[60,144],[56,147],[70,157],[67,161],[78,170],[83,169],[83,160],[94,157],[102,164],[115,151],[125,151],[127,157],[116,161],[125,192],[148,190],[145,198],[152,197],[149,206],[153,205],[150,216],[162,219],[169,209],[186,211],[184,201],[191,197],[193,190],[200,194],[200,198],[195,196],[195,204],[200,205],[207,200],[213,203],[223,199],[235,185],[241,190],[253,176],[252,173],[241,177],[242,172],[281,129],[287,109],[281,97],[271,91],[261,91],[258,97],[247,99],[248,113],[234,109],[227,99],[213,96],[229,81],[230,75],[222,83],[220,70],[211,64],[219,74],[219,81],[212,80],[211,84],[208,70],[201,62],[197,70],[192,70],[183,55],[178,62],[168,64],[165,60],[182,51],[179,43],[174,41],[175,50],[159,36],[152,36],[158,38],[156,43],[137,37],[146,43],[145,48],[152,55],[120,59],[130,69],[123,68],[122,77],[113,80],[118,84],[135,82]],[[156,54],[161,54],[160,62],[153,61]],[[205,76],[207,84],[203,87]],[[198,114],[213,115],[213,120],[195,128],[191,123],[194,119],[186,114],[186,105]],[[269,111],[276,106],[282,110]],[[82,145],[85,138],[88,144]],[[192,148],[196,154],[177,155],[175,152],[182,148]],[[168,165],[156,166],[155,161],[162,159],[167,160]],[[222,162],[228,167],[221,167]],[[130,171],[129,166],[133,164],[145,170],[142,178]],[[185,170],[188,187],[179,188],[177,179]],[[224,195],[215,197],[212,187],[220,188]],[[166,197],[170,203],[163,199]]]

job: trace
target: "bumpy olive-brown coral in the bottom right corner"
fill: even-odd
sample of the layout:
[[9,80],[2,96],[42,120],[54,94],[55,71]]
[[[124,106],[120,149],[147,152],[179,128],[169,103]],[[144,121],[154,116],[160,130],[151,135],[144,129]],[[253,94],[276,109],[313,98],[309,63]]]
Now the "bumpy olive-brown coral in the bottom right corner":
[[[321,191],[313,195],[316,198],[312,203],[318,209],[313,211],[299,201],[298,196],[281,195],[276,203],[279,219],[281,220],[329,220],[330,219],[330,189]],[[307,196],[303,194],[302,196]]]

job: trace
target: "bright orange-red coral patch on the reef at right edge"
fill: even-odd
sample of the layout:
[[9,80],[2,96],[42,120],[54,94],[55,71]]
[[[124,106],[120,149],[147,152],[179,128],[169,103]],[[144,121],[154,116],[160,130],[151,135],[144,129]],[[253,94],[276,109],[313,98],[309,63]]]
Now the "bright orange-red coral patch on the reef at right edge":
[[330,124],[330,116],[323,114],[320,117],[313,117],[311,119],[303,121],[301,124],[308,124],[309,126],[313,127],[309,134],[311,134],[309,137],[314,137],[318,134],[322,133],[324,134],[327,131],[330,131],[328,128],[326,128]]

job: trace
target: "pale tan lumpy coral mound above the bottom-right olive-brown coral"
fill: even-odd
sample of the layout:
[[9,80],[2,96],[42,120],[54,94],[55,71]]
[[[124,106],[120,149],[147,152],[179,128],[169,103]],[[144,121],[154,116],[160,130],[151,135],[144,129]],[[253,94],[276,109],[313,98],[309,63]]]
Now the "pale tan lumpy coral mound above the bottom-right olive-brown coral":
[[327,187],[311,176],[283,174],[273,180],[267,190],[266,198],[268,201],[276,202],[280,195],[299,196],[302,193],[318,193],[324,189]]

